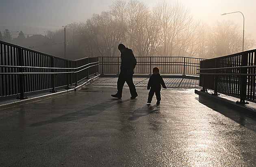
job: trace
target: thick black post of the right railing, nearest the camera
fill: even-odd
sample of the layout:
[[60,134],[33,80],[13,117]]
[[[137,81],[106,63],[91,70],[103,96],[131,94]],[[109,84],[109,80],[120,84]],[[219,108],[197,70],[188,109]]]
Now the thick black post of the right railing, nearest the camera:
[[[241,66],[247,66],[248,65],[248,54],[242,54],[241,58]],[[241,74],[247,74],[247,68],[241,68]],[[240,102],[241,104],[248,104],[248,102],[245,103],[245,97],[246,97],[246,88],[247,88],[247,75],[241,75],[240,79]]]

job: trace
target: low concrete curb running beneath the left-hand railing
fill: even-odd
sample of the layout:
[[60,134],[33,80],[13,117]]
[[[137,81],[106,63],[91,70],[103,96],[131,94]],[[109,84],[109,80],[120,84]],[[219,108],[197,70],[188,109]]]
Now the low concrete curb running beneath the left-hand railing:
[[70,93],[70,92],[74,92],[76,90],[81,89],[84,85],[88,84],[90,81],[93,81],[95,79],[97,79],[99,77],[99,75],[88,79],[87,81],[85,81],[83,84],[76,86],[75,88],[71,88],[69,90],[64,90],[61,92],[55,92],[55,93],[50,93],[50,94],[46,94],[46,95],[42,95],[42,96],[37,96],[37,97],[32,97],[32,98],[26,98],[26,99],[22,99],[20,101],[15,101],[15,102],[11,102],[11,103],[5,103],[5,104],[1,104],[0,105],[0,109],[5,109],[5,108],[9,108],[9,107],[13,107],[13,106],[17,106],[17,105],[21,105],[21,104],[25,104],[25,103],[30,103],[33,101],[39,101],[45,98],[51,98],[54,96],[59,96],[61,94],[66,94],[66,93]]

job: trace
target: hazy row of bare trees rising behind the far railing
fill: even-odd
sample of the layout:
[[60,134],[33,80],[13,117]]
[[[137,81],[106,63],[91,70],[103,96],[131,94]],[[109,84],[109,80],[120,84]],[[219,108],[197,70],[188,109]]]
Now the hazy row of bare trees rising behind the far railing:
[[[48,30],[46,36],[64,42],[63,29]],[[209,26],[193,19],[189,8],[179,2],[162,1],[150,9],[139,0],[117,0],[85,23],[66,26],[67,58],[119,56],[119,43],[135,56],[213,58],[241,52],[242,41],[242,29],[233,21]],[[245,34],[244,50],[254,47],[252,36]]]

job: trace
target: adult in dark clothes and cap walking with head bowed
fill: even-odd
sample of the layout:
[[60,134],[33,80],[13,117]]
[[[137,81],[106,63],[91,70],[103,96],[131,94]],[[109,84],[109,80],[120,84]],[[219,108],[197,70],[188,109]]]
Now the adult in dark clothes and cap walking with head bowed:
[[117,80],[117,94],[111,94],[112,97],[121,98],[124,83],[126,82],[130,89],[131,99],[138,96],[135,85],[133,84],[132,75],[137,64],[132,49],[128,49],[124,44],[119,44],[118,49],[121,52],[121,72]]

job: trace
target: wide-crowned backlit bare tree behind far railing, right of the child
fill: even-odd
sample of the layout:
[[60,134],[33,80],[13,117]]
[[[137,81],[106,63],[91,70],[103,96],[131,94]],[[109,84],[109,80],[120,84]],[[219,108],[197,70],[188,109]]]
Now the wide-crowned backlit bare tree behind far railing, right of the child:
[[189,9],[176,3],[171,5],[166,1],[158,3],[153,8],[154,19],[158,21],[160,47],[163,56],[181,56],[190,48],[192,54],[192,37],[197,30],[197,24]]

